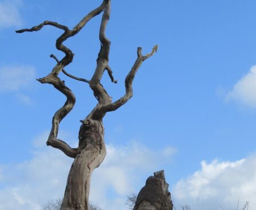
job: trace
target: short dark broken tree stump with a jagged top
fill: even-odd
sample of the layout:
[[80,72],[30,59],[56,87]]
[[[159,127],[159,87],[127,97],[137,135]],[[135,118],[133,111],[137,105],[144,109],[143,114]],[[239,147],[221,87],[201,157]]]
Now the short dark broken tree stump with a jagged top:
[[141,188],[133,210],[172,210],[173,204],[168,187],[164,171],[155,172]]

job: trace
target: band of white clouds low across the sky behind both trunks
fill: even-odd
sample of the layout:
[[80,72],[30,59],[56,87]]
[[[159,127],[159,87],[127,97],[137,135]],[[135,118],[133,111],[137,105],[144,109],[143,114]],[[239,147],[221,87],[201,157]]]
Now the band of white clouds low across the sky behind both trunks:
[[[73,160],[45,146],[47,136],[44,132],[35,138],[30,160],[0,167],[5,169],[0,179],[0,209],[41,210],[42,204],[63,195]],[[60,138],[72,139],[66,132]],[[126,196],[143,187],[152,172],[170,163],[175,152],[172,147],[154,151],[137,141],[107,145],[103,164],[93,172],[90,200],[103,209],[125,209]],[[238,161],[202,161],[198,171],[178,181],[171,191],[176,209],[180,204],[198,210],[218,210],[220,205],[235,209],[238,197],[241,205],[249,201],[250,207],[256,206],[255,186],[256,156],[250,156]]]

